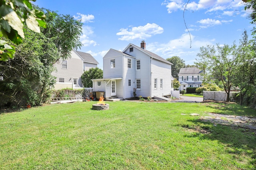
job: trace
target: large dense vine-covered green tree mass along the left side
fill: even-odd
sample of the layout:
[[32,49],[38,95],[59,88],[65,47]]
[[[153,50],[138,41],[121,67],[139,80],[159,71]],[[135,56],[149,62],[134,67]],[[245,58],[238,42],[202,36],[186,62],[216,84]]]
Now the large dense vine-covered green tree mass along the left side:
[[51,75],[54,63],[70,55],[71,50],[68,52],[67,49],[81,46],[78,40],[82,30],[80,21],[49,10],[46,16],[51,16],[46,19],[48,27],[42,28],[41,33],[25,27],[23,43],[15,45],[16,57],[0,62],[3,74],[0,106],[43,103],[50,96],[50,89],[56,81]]

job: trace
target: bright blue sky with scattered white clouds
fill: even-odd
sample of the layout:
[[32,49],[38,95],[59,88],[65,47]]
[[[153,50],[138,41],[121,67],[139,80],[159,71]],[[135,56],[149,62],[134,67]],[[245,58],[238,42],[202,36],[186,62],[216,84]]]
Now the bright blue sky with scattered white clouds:
[[239,43],[244,29],[250,35],[253,27],[246,18],[248,13],[244,12],[242,0],[36,0],[32,3],[82,19],[80,41],[84,46],[78,51],[90,53],[102,69],[102,57],[110,48],[123,51],[129,43],[140,46],[142,40],[148,51],[164,59],[179,56],[186,64],[194,64],[200,47]]

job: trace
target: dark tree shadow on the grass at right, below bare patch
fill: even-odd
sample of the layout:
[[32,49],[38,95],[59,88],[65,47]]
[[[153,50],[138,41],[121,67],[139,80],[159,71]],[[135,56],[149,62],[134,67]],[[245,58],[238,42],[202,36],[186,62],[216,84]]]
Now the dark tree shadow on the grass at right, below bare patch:
[[224,152],[234,154],[234,157],[239,154],[247,155],[252,159],[249,165],[256,167],[256,130],[215,125],[200,119],[189,120],[188,124],[180,126],[187,131],[194,132],[184,135],[185,137],[197,137],[200,140],[217,140],[228,147]]

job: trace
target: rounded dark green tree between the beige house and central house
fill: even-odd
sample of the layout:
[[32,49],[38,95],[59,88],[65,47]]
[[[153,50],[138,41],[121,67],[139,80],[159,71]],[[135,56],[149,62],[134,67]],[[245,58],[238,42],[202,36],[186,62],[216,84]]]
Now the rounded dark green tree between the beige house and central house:
[[81,78],[84,87],[92,87],[92,79],[103,78],[103,70],[98,67],[90,68],[82,74]]

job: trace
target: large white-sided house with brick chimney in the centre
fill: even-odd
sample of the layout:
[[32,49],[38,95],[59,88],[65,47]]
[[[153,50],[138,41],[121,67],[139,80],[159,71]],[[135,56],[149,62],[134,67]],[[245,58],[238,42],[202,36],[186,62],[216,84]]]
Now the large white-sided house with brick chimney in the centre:
[[124,51],[110,49],[103,57],[103,78],[92,80],[94,91],[103,91],[104,98],[166,96],[172,90],[172,63],[141,47],[129,44]]

